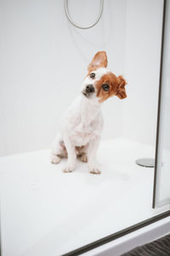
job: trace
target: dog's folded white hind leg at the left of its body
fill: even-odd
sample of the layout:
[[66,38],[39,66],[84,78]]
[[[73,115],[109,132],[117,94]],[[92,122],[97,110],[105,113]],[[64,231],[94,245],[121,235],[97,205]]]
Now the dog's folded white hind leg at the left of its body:
[[54,143],[53,143],[53,146],[52,146],[51,163],[52,164],[59,164],[61,158],[65,158],[65,157],[67,157],[65,144],[64,144],[62,138],[60,137],[60,135],[58,135],[54,139]]

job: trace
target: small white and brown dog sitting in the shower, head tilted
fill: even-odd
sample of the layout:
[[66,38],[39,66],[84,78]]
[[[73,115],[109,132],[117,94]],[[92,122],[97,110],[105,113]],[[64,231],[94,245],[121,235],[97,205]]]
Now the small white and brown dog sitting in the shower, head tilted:
[[51,162],[59,164],[61,158],[68,158],[63,172],[73,172],[78,158],[88,162],[89,172],[100,173],[95,160],[104,124],[100,110],[102,102],[111,96],[121,100],[127,97],[125,79],[116,77],[106,67],[106,52],[97,52],[88,65],[88,75],[83,80],[80,95],[62,116],[60,132],[51,151]]

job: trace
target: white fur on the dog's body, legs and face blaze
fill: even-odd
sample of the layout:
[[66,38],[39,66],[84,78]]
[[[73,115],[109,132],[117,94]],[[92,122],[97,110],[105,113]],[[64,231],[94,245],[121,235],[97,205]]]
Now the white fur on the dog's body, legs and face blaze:
[[[94,71],[95,79],[90,79],[89,76],[84,79],[82,90],[84,90],[88,84],[94,84],[108,72],[109,71],[103,67]],[[103,128],[100,105],[99,98],[96,96],[96,89],[89,98],[83,96],[81,92],[81,95],[77,96],[70,108],[63,114],[60,132],[54,140],[51,160],[54,164],[59,163],[60,154],[64,154],[63,148],[60,145],[60,142],[63,141],[68,154],[67,164],[63,170],[64,172],[74,171],[77,160],[75,147],[85,146],[85,153],[88,156],[89,172],[100,173],[95,166],[96,153]]]

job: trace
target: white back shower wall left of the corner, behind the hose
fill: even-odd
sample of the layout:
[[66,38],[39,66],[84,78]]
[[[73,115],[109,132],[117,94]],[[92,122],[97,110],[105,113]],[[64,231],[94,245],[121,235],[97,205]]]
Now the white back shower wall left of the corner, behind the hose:
[[[98,13],[98,0],[70,3],[82,25]],[[66,20],[63,0],[0,1],[1,155],[50,145],[96,51],[105,49],[111,69],[122,74],[125,7],[124,0],[105,1],[99,25],[81,31]],[[121,102],[105,102],[104,113],[104,137],[120,137]]]

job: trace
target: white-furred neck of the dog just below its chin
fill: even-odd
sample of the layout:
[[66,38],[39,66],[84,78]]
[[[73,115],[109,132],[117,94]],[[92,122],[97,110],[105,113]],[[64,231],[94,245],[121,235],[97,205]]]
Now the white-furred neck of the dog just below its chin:
[[81,124],[82,126],[90,125],[94,118],[100,111],[101,103],[98,99],[87,99],[85,96],[82,96],[81,101]]

